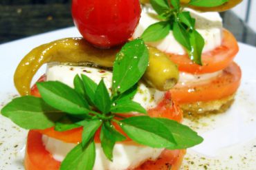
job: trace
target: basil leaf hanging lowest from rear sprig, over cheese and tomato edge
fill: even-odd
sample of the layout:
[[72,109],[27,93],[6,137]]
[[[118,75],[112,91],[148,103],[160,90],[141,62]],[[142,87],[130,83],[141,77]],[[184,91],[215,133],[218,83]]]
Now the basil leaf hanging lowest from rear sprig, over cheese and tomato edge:
[[205,42],[201,34],[196,30],[192,30],[192,32],[190,32],[190,45],[192,50],[189,55],[190,59],[198,65],[202,65],[201,54],[203,52],[204,44]]

